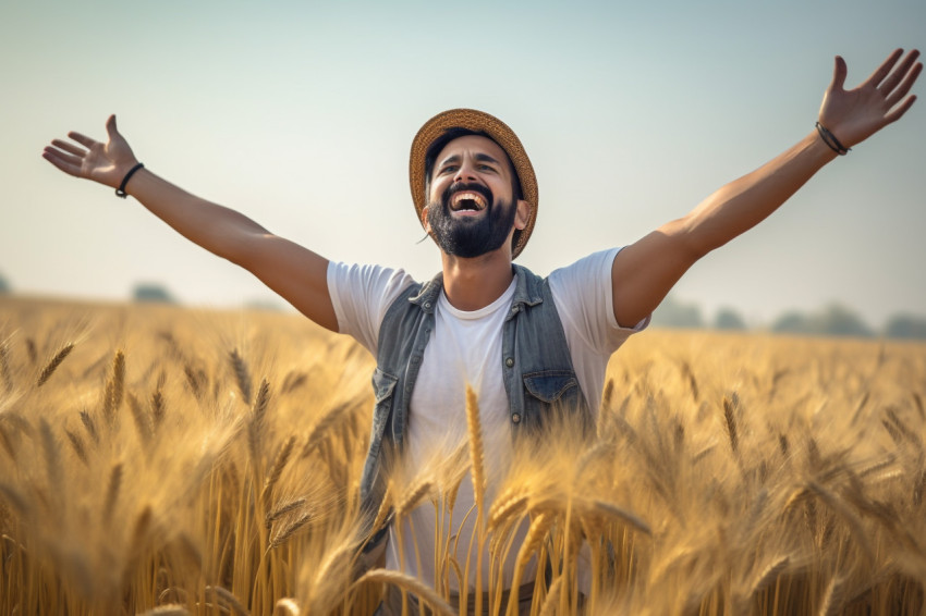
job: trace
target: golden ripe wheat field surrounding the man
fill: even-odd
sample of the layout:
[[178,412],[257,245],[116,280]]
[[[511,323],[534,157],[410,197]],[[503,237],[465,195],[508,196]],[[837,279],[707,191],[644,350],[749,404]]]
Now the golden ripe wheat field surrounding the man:
[[402,555],[434,584],[357,556],[371,369],[293,315],[0,298],[0,614],[465,613],[464,481],[475,613],[505,560],[533,614],[926,612],[924,344],[646,332],[592,432],[551,421],[505,468],[470,399],[374,522],[435,512]]

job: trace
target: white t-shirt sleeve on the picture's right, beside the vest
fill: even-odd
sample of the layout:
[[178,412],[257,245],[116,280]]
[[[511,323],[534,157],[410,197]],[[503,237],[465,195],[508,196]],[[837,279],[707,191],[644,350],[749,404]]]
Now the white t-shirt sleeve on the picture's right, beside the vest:
[[549,278],[566,340],[571,345],[581,342],[586,348],[606,356],[649,324],[649,317],[646,317],[633,328],[622,328],[614,318],[611,268],[619,251],[620,248],[611,248],[593,252],[553,271]]

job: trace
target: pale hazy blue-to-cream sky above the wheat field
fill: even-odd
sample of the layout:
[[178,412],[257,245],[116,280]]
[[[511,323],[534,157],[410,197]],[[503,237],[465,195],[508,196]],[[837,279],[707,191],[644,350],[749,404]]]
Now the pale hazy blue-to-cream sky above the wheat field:
[[[922,0],[178,1],[0,4],[0,275],[17,293],[122,300],[138,283],[206,307],[281,300],[42,147],[119,127],[148,169],[322,256],[430,278],[407,184],[444,109],[523,141],[539,274],[631,244],[814,130],[846,86],[926,47]],[[926,83],[914,89],[922,98]],[[926,315],[926,101],[708,255],[673,296],[753,324],[837,301]]]

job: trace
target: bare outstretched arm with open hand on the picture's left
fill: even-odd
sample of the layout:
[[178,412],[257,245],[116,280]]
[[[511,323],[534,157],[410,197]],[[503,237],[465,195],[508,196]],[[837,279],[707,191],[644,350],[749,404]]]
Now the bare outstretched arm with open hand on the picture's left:
[[[54,139],[45,148],[42,158],[69,175],[117,188],[138,160],[117,130],[114,115],[106,128],[106,144],[69,133],[77,145]],[[146,169],[132,175],[125,192],[187,239],[248,270],[306,317],[338,331],[328,294],[328,261],[322,257],[273,235],[234,210],[191,195]]]

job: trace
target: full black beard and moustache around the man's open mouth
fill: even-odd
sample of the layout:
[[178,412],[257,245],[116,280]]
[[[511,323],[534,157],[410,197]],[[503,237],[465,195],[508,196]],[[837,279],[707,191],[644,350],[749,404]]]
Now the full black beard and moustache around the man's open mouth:
[[[478,218],[455,219],[450,212],[450,199],[461,190],[482,194],[486,212]],[[451,184],[439,201],[428,206],[428,223],[438,247],[448,255],[463,259],[482,257],[498,250],[514,226],[515,208],[512,201],[495,200],[491,192],[479,184]]]

